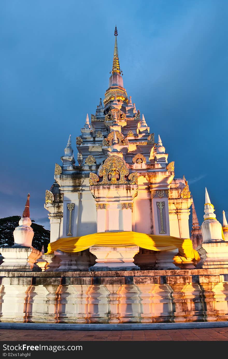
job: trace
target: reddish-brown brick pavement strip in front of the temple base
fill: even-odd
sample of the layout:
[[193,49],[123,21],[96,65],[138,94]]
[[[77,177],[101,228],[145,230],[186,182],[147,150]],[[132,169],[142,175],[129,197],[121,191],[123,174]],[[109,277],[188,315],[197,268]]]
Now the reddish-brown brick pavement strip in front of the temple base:
[[228,327],[160,330],[0,329],[0,341],[227,341]]

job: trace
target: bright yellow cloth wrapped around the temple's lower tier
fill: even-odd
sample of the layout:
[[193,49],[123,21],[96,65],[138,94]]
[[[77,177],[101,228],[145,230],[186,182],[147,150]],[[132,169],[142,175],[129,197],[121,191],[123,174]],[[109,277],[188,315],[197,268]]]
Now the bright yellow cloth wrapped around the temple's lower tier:
[[52,254],[56,250],[75,253],[85,249],[98,247],[131,247],[139,246],[152,251],[170,251],[178,248],[179,255],[185,258],[200,260],[199,253],[192,248],[191,239],[183,239],[171,236],[155,236],[153,234],[137,232],[104,232],[88,234],[82,237],[60,238],[49,243],[47,253]]

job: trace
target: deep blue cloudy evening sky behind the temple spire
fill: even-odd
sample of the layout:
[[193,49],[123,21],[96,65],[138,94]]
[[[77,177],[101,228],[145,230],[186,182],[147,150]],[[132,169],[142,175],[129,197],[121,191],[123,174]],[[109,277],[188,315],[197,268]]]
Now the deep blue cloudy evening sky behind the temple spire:
[[[228,1],[2,1],[0,218],[48,227],[45,190],[69,134],[104,98],[118,28],[124,86],[189,181],[199,222],[205,186],[227,211]],[[228,218],[227,218],[228,219]]]

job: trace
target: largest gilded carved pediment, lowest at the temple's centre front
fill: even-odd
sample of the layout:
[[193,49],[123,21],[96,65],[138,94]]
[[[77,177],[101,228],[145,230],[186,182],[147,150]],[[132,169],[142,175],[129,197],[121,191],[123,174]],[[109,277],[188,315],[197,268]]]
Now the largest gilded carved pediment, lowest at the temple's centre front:
[[[99,177],[103,177],[103,180]],[[138,183],[137,172],[129,174],[129,169],[126,167],[124,160],[115,155],[108,157],[104,161],[104,164],[99,172],[99,177],[97,174],[90,172],[90,186],[137,185]]]

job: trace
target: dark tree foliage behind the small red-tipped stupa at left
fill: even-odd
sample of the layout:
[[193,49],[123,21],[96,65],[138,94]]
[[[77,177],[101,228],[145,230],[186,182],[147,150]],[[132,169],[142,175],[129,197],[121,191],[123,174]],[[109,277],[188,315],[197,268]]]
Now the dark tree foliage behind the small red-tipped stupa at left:
[[[19,220],[20,216],[0,218],[0,248],[11,247],[14,245],[13,231],[19,226]],[[42,246],[44,246],[46,251],[47,245],[50,242],[50,230],[43,228],[42,225],[34,223],[34,221],[32,222],[31,227],[34,232],[32,246],[39,251],[41,251]]]

